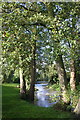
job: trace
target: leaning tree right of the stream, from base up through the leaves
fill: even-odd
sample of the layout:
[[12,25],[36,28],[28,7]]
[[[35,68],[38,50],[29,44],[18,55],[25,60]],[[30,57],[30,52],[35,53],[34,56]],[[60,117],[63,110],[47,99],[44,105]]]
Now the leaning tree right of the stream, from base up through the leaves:
[[[52,12],[53,10],[51,9],[53,7],[53,3],[48,3],[47,4],[48,11],[49,11],[49,16],[54,19],[54,13]],[[59,6],[58,6],[59,7]],[[56,8],[55,8],[56,9]],[[69,102],[69,100],[66,97],[67,91],[67,76],[66,76],[66,71],[63,63],[63,58],[61,54],[61,47],[60,47],[60,38],[62,35],[59,35],[60,32],[60,26],[59,26],[59,21],[57,16],[55,15],[56,20],[53,23],[54,29],[52,30],[53,32],[53,41],[54,41],[54,51],[55,51],[55,57],[56,57],[56,65],[57,65],[57,72],[58,72],[58,77],[59,77],[59,83],[61,87],[61,95],[62,95],[62,100],[64,102]],[[58,23],[57,23],[58,22]]]

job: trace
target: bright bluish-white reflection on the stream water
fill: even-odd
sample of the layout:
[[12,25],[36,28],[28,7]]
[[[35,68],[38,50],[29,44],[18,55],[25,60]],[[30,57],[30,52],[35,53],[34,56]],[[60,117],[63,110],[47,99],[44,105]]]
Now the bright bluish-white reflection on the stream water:
[[48,85],[48,82],[37,82],[35,84],[35,88],[37,91],[35,91],[35,102],[34,104],[42,107],[51,107],[56,102],[53,102],[50,96],[54,96],[56,94],[56,91],[50,91],[46,86]]

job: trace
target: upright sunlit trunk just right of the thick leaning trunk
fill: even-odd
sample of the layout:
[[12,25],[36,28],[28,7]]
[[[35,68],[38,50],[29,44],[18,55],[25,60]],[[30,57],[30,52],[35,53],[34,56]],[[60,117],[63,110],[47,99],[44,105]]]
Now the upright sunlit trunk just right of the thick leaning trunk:
[[75,81],[75,62],[74,60],[71,60],[71,72],[70,72],[70,88],[71,91],[74,91],[76,89],[76,81]]

